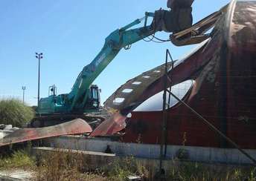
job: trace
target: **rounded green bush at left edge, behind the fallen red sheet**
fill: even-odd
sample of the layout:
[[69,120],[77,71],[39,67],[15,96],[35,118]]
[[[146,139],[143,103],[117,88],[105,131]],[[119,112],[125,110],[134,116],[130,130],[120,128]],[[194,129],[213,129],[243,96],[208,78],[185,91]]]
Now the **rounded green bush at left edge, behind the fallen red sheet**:
[[21,127],[33,119],[34,111],[19,99],[0,100],[0,124]]

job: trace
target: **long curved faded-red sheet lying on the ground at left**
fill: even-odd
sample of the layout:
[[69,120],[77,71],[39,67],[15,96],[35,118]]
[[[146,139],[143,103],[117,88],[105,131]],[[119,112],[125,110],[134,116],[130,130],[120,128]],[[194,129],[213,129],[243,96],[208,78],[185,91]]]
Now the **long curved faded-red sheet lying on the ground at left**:
[[3,145],[26,142],[35,139],[43,139],[68,134],[85,134],[91,132],[92,128],[86,121],[83,119],[74,119],[70,122],[45,128],[24,128],[13,131],[12,134],[4,136],[3,139],[0,139],[0,147]]

